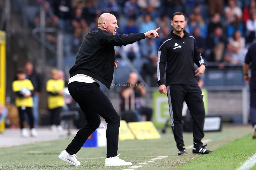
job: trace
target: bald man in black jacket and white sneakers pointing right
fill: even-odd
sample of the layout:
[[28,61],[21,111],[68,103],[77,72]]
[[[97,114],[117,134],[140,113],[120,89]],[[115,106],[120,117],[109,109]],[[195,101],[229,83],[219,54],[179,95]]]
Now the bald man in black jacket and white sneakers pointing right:
[[[100,125],[100,116],[108,123],[106,129],[107,156],[105,166],[132,165],[117,154],[120,117],[108,97],[100,90],[97,81],[108,89],[113,80],[115,61],[114,46],[126,46],[144,38],[158,37],[156,30],[129,35],[115,35],[118,29],[114,15],[104,13],[98,20],[98,29],[88,33],[80,47],[75,65],[70,69],[68,90],[81,107],[87,123],[77,132],[67,149],[59,155],[63,161],[80,166],[76,153],[87,138]],[[100,116],[99,116],[100,115]]]

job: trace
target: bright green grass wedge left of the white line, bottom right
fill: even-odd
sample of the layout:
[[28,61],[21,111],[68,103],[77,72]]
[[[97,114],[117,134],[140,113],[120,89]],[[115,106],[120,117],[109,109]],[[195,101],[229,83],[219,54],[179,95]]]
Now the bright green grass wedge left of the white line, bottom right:
[[[255,152],[256,140],[253,140],[252,135],[249,134],[216,149],[213,153],[189,161],[187,165],[180,167],[178,170],[234,170],[240,167]],[[251,169],[256,169],[255,167]]]

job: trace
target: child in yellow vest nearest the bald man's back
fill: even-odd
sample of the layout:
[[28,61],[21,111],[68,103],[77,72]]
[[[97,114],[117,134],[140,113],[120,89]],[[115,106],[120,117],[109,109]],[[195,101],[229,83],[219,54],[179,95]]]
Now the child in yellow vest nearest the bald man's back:
[[48,109],[50,111],[50,123],[51,129],[53,131],[62,131],[63,128],[60,125],[60,112],[62,111],[62,106],[65,105],[63,97],[63,88],[65,87],[65,82],[60,79],[60,74],[57,69],[51,71],[52,78],[46,83],[46,91],[48,92]]

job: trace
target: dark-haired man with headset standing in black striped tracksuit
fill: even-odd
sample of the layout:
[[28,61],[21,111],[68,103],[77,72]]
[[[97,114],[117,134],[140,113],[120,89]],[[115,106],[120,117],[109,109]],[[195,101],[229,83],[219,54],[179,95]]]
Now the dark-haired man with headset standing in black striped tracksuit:
[[[204,73],[205,63],[196,47],[195,38],[184,31],[186,24],[183,13],[174,13],[171,21],[174,30],[160,42],[157,63],[158,90],[159,93],[168,96],[172,131],[179,149],[178,155],[186,155],[182,134],[184,100],[193,118],[193,154],[208,154],[213,151],[205,149],[206,145],[201,142],[204,137],[205,109],[202,100],[204,94],[196,80],[196,77]],[[196,70],[194,63],[198,65]],[[163,80],[165,73],[166,85]]]

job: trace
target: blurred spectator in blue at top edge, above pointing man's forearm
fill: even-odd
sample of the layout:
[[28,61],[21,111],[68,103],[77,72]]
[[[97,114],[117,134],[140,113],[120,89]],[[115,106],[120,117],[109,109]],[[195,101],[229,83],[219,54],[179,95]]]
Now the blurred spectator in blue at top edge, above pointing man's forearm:
[[124,13],[126,18],[136,19],[140,14],[138,9],[137,0],[128,0],[124,4]]

